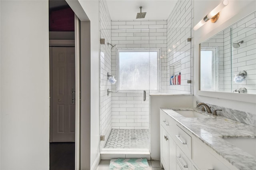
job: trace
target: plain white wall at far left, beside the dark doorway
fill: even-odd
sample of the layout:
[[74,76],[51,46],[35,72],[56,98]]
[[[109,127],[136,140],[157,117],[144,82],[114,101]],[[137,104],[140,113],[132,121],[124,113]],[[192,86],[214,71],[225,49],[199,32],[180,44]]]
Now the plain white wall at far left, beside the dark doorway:
[[1,1],[1,169],[49,169],[48,1]]

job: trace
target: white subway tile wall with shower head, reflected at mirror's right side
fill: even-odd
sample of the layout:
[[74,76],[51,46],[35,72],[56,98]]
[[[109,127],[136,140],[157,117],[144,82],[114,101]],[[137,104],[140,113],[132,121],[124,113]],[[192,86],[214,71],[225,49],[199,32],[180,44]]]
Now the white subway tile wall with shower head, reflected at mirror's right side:
[[232,43],[244,41],[239,48],[232,48],[232,81],[240,71],[247,72],[244,81],[233,81],[232,90],[245,87],[247,93],[256,94],[256,12],[232,26],[232,40]]

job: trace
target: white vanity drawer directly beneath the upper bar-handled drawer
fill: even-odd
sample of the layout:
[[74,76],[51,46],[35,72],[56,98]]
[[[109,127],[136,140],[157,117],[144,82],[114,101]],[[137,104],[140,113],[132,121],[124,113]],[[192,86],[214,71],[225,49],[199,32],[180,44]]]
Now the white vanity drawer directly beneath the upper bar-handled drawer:
[[181,148],[178,145],[176,145],[176,147],[177,168],[179,165],[182,170],[192,170],[192,163],[190,162],[189,158],[186,156],[184,152],[182,152]]

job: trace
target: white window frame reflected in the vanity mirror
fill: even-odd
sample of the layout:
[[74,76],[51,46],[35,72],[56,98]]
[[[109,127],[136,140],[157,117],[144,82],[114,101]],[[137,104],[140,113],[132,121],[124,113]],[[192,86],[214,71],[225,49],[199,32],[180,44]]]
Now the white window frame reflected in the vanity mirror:
[[[209,89],[209,90],[203,89],[203,91],[218,91],[218,47],[201,47],[201,51],[212,51],[212,65],[213,65],[212,89]],[[200,54],[200,57],[201,57],[201,54]],[[200,68],[200,74],[201,74],[201,68]],[[200,83],[200,90],[201,90],[201,83]]]

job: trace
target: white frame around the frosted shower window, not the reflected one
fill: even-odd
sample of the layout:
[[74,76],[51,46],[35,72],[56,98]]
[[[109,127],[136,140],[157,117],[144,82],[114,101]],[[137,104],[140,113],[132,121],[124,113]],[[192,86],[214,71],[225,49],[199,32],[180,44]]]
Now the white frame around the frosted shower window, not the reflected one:
[[[161,49],[160,48],[154,48],[154,49],[116,49],[116,92],[142,92],[142,90],[120,90],[119,87],[119,53],[120,52],[157,52],[157,89],[151,90],[151,89],[145,89],[147,92],[159,92],[160,91],[160,55],[161,55]],[[149,85],[150,88],[150,85]]]

